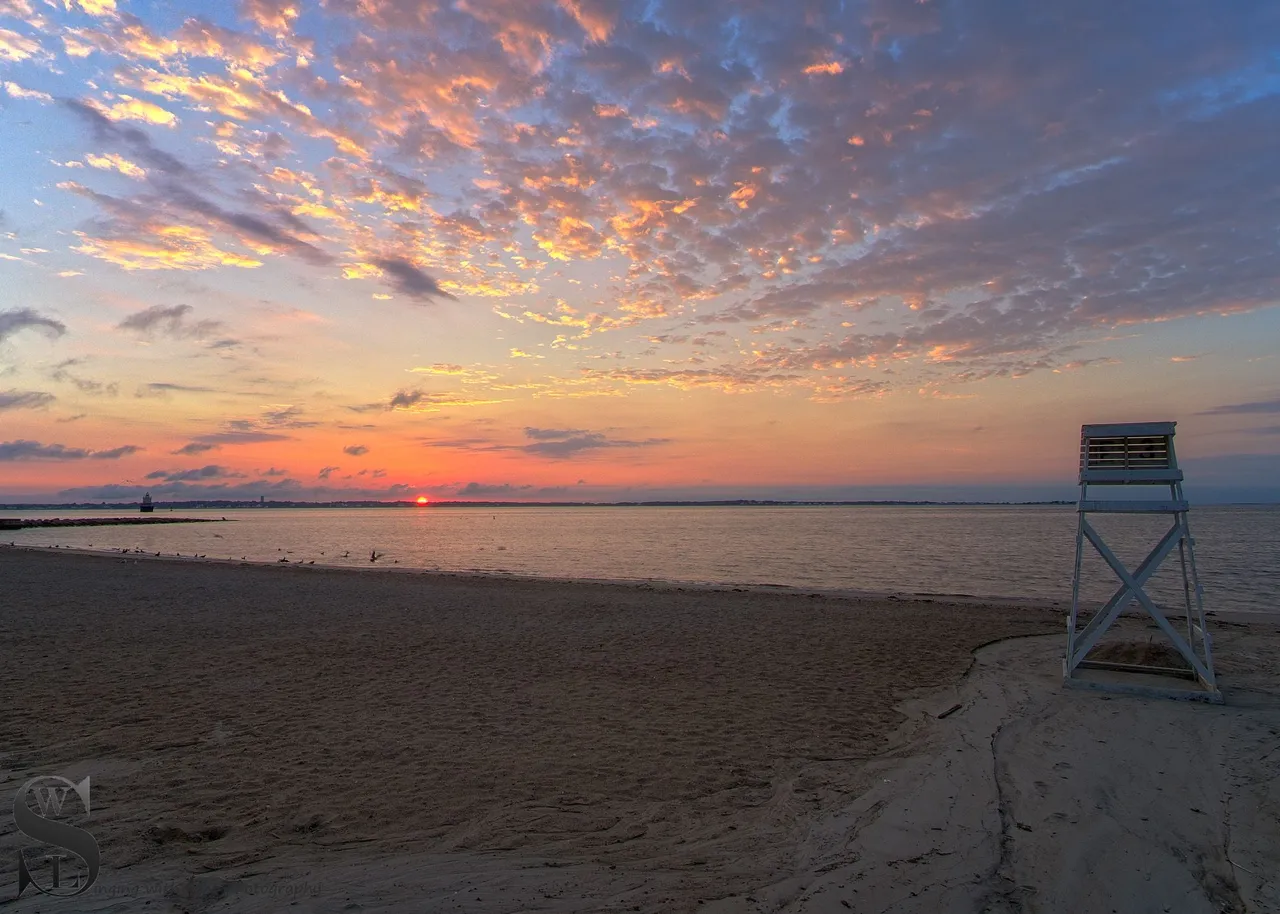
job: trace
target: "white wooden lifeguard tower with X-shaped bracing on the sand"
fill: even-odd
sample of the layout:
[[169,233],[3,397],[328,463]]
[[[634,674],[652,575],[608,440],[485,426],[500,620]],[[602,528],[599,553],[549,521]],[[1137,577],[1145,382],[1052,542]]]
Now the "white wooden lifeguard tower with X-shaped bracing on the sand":
[[[1178,469],[1174,453],[1176,425],[1176,422],[1124,422],[1085,425],[1080,429],[1079,529],[1075,535],[1071,614],[1066,622],[1066,658],[1062,661],[1062,682],[1066,686],[1215,703],[1222,700],[1213,677],[1213,650],[1208,630],[1204,627],[1203,590],[1196,573],[1194,540],[1187,522],[1190,506],[1183,498],[1183,471]],[[1091,499],[1091,485],[1169,486],[1169,499]],[[1172,518],[1172,525],[1142,563],[1130,572],[1089,524],[1088,516],[1092,513],[1165,515]],[[1120,579],[1120,586],[1088,620],[1088,623],[1080,627],[1080,562],[1084,540],[1092,543],[1111,566]],[[1165,609],[1157,607],[1143,590],[1143,585],[1175,548],[1181,563],[1184,595],[1184,605],[1178,611],[1178,627],[1170,622]],[[1187,662],[1187,668],[1088,659],[1089,652],[1098,646],[1107,629],[1134,603],[1151,616]],[[1185,635],[1179,629],[1183,629]],[[1180,681],[1187,681],[1187,685],[1181,686]]]

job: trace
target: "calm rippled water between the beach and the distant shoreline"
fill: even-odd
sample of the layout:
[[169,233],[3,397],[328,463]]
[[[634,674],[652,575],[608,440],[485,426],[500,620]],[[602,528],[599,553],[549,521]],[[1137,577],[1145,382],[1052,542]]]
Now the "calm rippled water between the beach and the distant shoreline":
[[[13,512],[10,512],[13,513]],[[125,511],[32,512],[32,516]],[[257,562],[315,561],[550,577],[773,584],[827,590],[946,593],[1069,600],[1071,507],[316,508],[186,511],[229,524],[65,527],[5,533],[14,543]],[[1207,609],[1280,611],[1280,507],[1192,511]],[[1167,529],[1142,516],[1094,516],[1129,567]],[[1085,552],[1084,595],[1117,581]],[[1148,588],[1181,599],[1176,553]]]

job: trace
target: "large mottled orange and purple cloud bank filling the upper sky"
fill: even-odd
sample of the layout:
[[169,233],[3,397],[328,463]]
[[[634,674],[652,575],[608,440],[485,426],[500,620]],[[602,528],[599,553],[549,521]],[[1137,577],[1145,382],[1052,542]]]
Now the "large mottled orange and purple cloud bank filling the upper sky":
[[[242,0],[234,29],[90,5],[24,0],[4,52],[19,72],[46,36],[95,55],[93,100],[64,110],[82,177],[127,191],[63,187],[97,214],[74,250],[122,269],[282,255],[328,278],[340,251],[411,300],[499,297],[527,334],[507,352],[567,362],[680,321],[652,349],[620,339],[632,374],[602,385],[815,399],[1062,370],[1107,328],[1276,303],[1262,0],[1052,20],[996,0]],[[691,353],[714,324],[787,335]]]

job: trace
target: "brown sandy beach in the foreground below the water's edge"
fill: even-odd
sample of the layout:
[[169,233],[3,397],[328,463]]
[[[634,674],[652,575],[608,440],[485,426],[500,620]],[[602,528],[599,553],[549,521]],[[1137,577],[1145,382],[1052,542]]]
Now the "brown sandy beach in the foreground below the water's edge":
[[0,582],[0,798],[91,776],[102,853],[13,902],[0,818],[0,910],[1280,911],[1268,622],[1217,625],[1212,707],[1064,691],[1059,613],[973,602],[20,549]]

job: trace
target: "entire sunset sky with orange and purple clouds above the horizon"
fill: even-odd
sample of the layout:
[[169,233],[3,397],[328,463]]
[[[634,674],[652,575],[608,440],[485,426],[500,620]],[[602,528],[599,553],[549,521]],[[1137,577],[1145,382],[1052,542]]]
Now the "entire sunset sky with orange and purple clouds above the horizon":
[[0,501],[1280,501],[1280,4],[0,0]]

